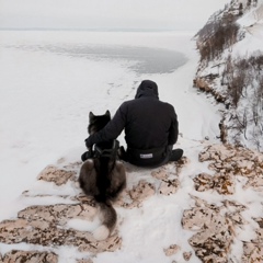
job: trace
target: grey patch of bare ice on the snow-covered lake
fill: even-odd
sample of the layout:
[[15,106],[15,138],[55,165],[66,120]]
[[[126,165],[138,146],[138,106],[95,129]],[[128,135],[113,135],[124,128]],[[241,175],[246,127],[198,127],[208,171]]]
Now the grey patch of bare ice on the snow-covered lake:
[[127,68],[141,73],[170,73],[186,62],[184,54],[176,50],[150,47],[88,44],[45,44],[45,45],[4,45],[32,53],[50,53],[53,55],[82,58],[95,61],[127,62]]

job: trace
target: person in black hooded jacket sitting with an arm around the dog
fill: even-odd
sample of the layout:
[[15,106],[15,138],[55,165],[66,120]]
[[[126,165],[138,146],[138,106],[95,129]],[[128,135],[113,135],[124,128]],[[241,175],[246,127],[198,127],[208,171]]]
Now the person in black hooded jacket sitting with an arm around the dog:
[[[91,149],[95,144],[116,139],[123,129],[127,150],[121,147],[119,158],[124,161],[138,167],[160,167],[183,156],[182,149],[172,149],[179,135],[174,107],[159,100],[158,85],[151,80],[144,80],[135,99],[124,102],[103,129],[85,139],[85,146]],[[89,151],[81,156],[82,161],[88,158]]]

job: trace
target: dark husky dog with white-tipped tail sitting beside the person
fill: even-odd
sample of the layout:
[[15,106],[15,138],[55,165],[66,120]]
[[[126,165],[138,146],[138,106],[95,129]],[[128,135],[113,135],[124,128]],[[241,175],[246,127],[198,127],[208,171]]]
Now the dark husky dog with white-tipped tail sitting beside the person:
[[[94,115],[90,112],[89,117],[89,134],[99,132],[111,121],[108,111],[104,115]],[[100,207],[102,226],[93,232],[98,240],[106,239],[114,229],[117,214],[111,201],[115,199],[126,186],[124,165],[116,160],[117,142],[111,140],[95,145],[92,159],[88,159],[80,169],[80,187],[88,196],[94,197]]]

